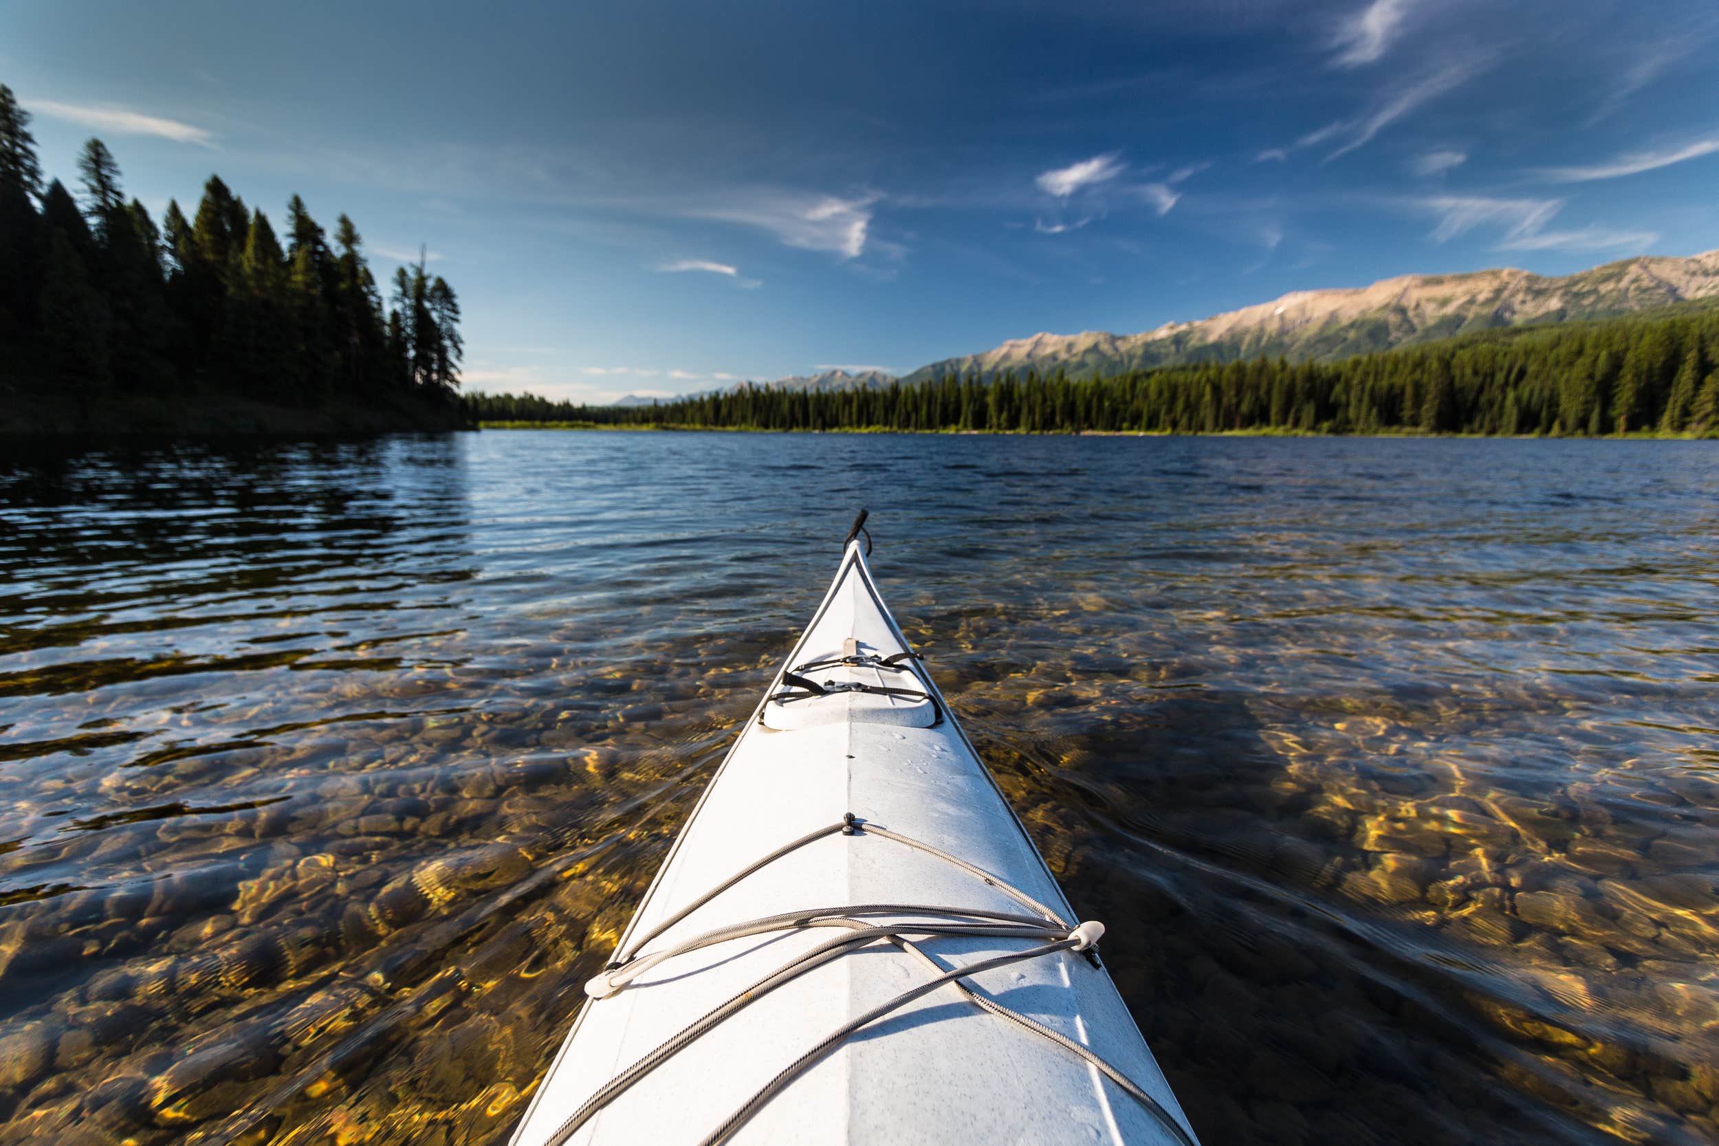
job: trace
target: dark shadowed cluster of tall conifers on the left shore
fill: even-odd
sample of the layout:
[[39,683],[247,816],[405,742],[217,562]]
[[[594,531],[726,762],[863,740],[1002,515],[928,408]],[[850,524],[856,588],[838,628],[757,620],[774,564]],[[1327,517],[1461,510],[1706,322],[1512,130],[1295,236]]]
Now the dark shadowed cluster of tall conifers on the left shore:
[[100,139],[79,156],[81,194],[45,187],[29,119],[0,84],[0,380],[81,400],[452,400],[459,301],[423,259],[394,273],[383,308],[351,218],[330,241],[292,196],[282,244],[218,175],[191,218],[168,201],[158,227]]

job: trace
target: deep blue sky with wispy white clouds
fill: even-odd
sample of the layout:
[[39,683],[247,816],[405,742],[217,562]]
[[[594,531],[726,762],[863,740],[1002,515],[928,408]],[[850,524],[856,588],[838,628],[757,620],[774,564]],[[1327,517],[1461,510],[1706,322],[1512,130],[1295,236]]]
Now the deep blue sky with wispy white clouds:
[[0,5],[70,182],[100,134],[426,244],[468,387],[609,400],[913,369],[1286,290],[1719,247],[1710,0]]

